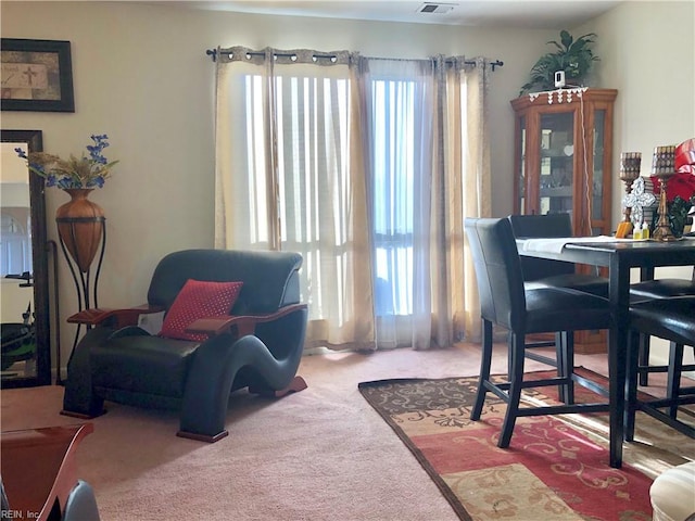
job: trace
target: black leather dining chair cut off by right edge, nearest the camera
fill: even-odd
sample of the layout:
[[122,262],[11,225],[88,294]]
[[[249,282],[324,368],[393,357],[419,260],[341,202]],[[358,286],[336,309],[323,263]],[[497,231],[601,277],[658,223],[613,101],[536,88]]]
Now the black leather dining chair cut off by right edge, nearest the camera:
[[[645,334],[659,336],[670,342],[669,377],[665,398],[654,398],[637,393],[639,344],[640,336]],[[643,410],[678,431],[695,437],[695,428],[678,419],[680,405],[695,404],[695,385],[681,385],[683,369],[695,369],[695,366],[683,365],[685,346],[695,346],[695,296],[653,298],[634,302],[630,305],[624,429],[627,441],[634,440],[635,412],[637,410]]]

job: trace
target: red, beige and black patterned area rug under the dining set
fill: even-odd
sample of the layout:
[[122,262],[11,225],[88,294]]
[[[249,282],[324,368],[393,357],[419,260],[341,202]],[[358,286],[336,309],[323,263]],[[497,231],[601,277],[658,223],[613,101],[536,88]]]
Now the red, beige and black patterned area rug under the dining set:
[[[654,478],[695,459],[691,439],[642,412],[622,469],[608,465],[607,415],[519,418],[509,448],[498,448],[506,405],[488,393],[471,421],[477,385],[478,377],[359,384],[463,520],[650,520]],[[578,402],[596,401],[576,387]],[[557,403],[557,387],[542,389],[526,399]]]

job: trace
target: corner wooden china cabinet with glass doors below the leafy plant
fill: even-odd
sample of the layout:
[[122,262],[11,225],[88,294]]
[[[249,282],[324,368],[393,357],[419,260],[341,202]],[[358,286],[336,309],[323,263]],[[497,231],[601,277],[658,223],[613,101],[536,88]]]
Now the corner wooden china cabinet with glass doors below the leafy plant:
[[[615,89],[569,88],[511,101],[515,214],[564,212],[571,215],[577,237],[610,233],[617,94]],[[606,334],[578,333],[576,348],[605,351]]]

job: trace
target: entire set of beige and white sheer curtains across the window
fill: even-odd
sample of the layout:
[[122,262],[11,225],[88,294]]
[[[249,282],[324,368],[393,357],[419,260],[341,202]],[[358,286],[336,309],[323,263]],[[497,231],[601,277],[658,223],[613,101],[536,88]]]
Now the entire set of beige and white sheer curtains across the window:
[[479,334],[486,64],[217,50],[216,247],[302,253],[307,346]]

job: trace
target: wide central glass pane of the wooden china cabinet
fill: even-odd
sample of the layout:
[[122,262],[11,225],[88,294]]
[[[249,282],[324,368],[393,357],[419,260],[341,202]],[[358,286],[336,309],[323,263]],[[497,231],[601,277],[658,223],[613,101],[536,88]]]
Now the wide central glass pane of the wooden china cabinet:
[[541,214],[572,211],[573,128],[571,112],[541,115]]

